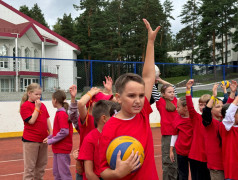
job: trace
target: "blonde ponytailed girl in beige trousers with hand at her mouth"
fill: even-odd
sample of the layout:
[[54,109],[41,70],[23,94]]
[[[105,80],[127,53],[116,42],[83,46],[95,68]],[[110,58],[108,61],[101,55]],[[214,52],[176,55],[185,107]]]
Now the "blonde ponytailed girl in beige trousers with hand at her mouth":
[[43,179],[48,160],[48,146],[43,140],[52,134],[49,113],[40,101],[41,87],[32,83],[22,97],[20,114],[24,121],[23,179]]

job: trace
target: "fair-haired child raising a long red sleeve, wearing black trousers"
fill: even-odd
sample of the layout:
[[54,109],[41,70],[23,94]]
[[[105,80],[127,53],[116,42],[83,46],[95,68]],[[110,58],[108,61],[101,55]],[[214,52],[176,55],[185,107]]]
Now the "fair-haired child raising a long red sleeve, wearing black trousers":
[[[193,124],[193,139],[188,154],[189,165],[191,170],[191,176],[193,180],[210,180],[210,172],[207,168],[207,158],[205,152],[205,140],[204,140],[204,126],[202,124],[202,116],[199,114],[193,106],[191,87],[194,84],[194,80],[190,79],[186,84],[186,102],[189,112],[189,117]],[[206,102],[211,98],[211,95],[202,95],[199,102],[199,111],[203,112],[203,108],[206,106]]]

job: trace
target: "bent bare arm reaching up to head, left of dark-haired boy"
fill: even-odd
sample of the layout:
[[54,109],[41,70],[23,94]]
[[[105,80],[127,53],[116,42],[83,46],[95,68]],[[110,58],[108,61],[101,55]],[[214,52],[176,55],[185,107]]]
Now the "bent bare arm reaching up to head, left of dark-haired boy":
[[81,99],[78,101],[78,111],[80,114],[80,120],[82,124],[84,123],[88,112],[86,104],[92,99],[94,95],[96,95],[99,92],[100,92],[99,88],[92,87],[91,90],[88,91],[85,95],[83,95],[83,97],[81,97]]

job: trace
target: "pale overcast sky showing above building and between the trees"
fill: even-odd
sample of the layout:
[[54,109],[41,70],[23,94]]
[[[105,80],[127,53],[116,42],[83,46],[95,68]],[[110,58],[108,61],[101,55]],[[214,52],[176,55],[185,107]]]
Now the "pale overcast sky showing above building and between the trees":
[[[67,15],[71,13],[72,17],[75,18],[79,16],[79,12],[73,7],[73,4],[79,5],[79,0],[3,0],[7,4],[19,9],[20,6],[26,5],[32,8],[35,3],[38,4],[42,13],[44,14],[46,22],[52,26],[56,23],[57,18],[62,18],[63,14]],[[160,0],[161,4],[165,0]],[[186,0],[171,0],[173,2],[173,13],[172,16],[175,18],[171,21],[171,29],[174,34],[179,32],[183,27],[180,23],[180,18],[177,16],[181,13],[182,5],[185,4]]]

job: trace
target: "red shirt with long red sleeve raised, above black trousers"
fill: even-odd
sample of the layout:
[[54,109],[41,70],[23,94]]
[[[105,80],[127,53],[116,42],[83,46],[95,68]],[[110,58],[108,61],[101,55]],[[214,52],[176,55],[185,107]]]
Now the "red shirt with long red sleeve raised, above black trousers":
[[186,102],[193,124],[193,139],[188,157],[196,161],[207,162],[202,115],[194,109],[192,96],[186,96]]

